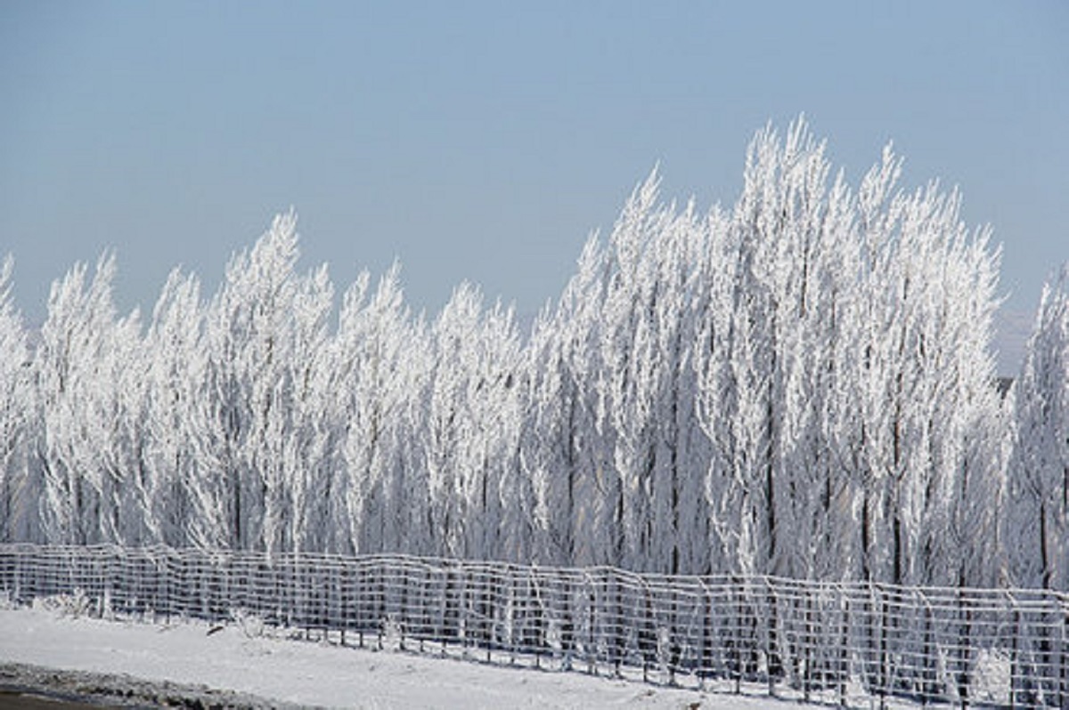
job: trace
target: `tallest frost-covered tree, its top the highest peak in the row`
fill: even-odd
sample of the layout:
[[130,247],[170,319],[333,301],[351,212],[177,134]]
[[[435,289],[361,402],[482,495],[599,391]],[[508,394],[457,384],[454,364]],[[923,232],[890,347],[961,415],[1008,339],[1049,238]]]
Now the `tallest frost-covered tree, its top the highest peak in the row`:
[[[739,258],[733,368],[740,404],[741,479],[760,511],[750,536],[757,569],[836,574],[841,468],[827,428],[839,392],[840,326],[851,282],[849,200],[828,187],[823,143],[796,122],[783,141],[762,131],[750,145],[731,228]],[[753,504],[753,503],[752,503]],[[828,545],[834,542],[833,545]]]

